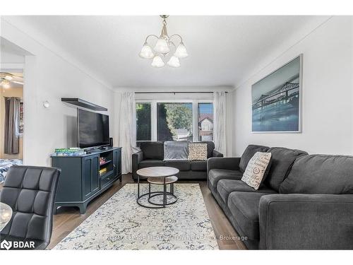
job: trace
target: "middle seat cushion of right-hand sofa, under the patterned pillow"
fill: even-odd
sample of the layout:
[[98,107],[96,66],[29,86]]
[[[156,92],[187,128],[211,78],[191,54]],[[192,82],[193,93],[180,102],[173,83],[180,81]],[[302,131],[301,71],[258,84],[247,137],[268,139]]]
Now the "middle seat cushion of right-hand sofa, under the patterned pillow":
[[234,180],[234,179],[221,179],[217,184],[217,192],[218,194],[220,194],[220,197],[226,204],[228,201],[228,196],[232,192],[260,192],[260,193],[267,193],[267,194],[277,193],[273,189],[270,189],[265,186],[261,186],[260,189],[254,189],[253,187],[250,187],[242,180]]

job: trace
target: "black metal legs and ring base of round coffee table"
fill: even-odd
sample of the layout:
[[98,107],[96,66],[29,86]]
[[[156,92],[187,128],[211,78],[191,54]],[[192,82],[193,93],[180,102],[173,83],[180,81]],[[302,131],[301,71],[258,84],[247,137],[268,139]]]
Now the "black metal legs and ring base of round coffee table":
[[[148,183],[148,192],[140,195],[140,177],[139,176],[138,176],[138,180],[137,180],[137,185],[138,185],[138,197],[136,199],[136,202],[139,206],[142,206],[145,208],[150,208],[150,209],[158,209],[158,208],[165,208],[165,206],[170,205],[170,204],[175,204],[178,201],[177,196],[174,195],[174,183],[169,184],[170,185],[170,192],[167,192],[167,184],[165,184],[165,179],[164,179],[162,192],[151,192],[151,184]],[[144,196],[148,196],[148,200],[147,200],[148,203],[152,204],[154,206],[148,206],[145,204],[141,204],[140,199],[143,198]],[[163,196],[163,198],[162,198],[163,203],[157,204],[155,202],[151,202],[150,199],[155,196]],[[168,202],[167,196],[172,196],[174,198],[174,200]]]

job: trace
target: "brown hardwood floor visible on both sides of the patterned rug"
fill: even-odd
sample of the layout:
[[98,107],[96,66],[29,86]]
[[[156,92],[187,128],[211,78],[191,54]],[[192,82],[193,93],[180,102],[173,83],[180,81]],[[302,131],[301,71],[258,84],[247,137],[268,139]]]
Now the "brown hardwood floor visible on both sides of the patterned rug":
[[[76,207],[59,208],[56,216],[54,216],[52,240],[48,249],[51,249],[58,244],[64,237],[66,237],[66,235],[68,235],[69,232],[80,225],[85,218],[88,218],[88,216],[97,210],[97,208],[102,206],[105,201],[107,201],[127,183],[135,183],[133,182],[130,174],[123,175],[123,182],[121,184],[119,181],[115,182],[111,188],[107,189],[106,192],[88,204],[87,211],[83,215],[80,215],[78,208]],[[208,215],[210,216],[213,230],[215,230],[215,235],[217,237],[217,242],[220,249],[246,249],[245,245],[241,241],[234,239],[239,235],[229,223],[229,220],[222,212],[222,209],[213,198],[213,195],[207,187],[207,183],[205,181],[193,181],[193,183],[200,184],[205,206],[207,208]],[[227,238],[227,240],[220,239],[220,237]]]

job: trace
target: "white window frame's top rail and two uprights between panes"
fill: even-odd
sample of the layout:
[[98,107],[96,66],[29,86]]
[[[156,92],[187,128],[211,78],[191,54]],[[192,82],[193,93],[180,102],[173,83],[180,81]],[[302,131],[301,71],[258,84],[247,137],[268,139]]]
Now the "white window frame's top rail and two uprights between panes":
[[[151,141],[157,141],[157,103],[192,103],[193,105],[193,141],[198,141],[198,103],[213,103],[213,100],[135,100],[136,103],[151,105]],[[213,120],[215,112],[213,112]]]

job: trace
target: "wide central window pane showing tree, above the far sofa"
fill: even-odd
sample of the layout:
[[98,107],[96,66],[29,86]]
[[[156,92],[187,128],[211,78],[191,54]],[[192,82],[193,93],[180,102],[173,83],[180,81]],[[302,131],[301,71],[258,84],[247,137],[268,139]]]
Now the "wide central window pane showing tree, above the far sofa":
[[157,141],[193,141],[193,104],[157,103]]

